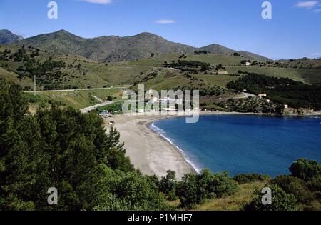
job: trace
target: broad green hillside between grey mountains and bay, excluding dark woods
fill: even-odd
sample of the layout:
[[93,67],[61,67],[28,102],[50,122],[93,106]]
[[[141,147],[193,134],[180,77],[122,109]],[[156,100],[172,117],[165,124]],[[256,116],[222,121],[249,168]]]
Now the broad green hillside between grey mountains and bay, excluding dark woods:
[[[245,66],[245,62],[251,65]],[[145,59],[106,64],[82,56],[52,54],[31,46],[0,47],[0,77],[20,84],[24,91],[33,90],[36,75],[37,90],[99,89],[111,86],[128,86],[137,90],[138,84],[145,84],[146,91],[198,89],[200,104],[207,109],[276,111],[277,104],[266,104],[255,99],[239,101],[244,96],[226,88],[230,81],[237,81],[246,72],[290,78],[305,84],[321,84],[320,59],[252,61],[238,54],[228,56],[195,52],[155,54]],[[52,92],[42,94],[40,99],[81,109],[98,103],[93,95],[86,91]],[[231,98],[235,101],[231,101]],[[235,108],[235,104],[240,109]]]

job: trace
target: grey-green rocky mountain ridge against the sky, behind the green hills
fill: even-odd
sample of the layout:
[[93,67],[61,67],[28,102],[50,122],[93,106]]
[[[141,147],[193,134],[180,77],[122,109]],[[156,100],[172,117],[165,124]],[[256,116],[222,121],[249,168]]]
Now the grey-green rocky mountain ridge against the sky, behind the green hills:
[[[99,62],[131,61],[148,58],[151,54],[193,54],[194,51],[199,50],[225,55],[232,55],[235,52],[233,49],[219,45],[205,46],[198,49],[193,46],[174,43],[150,33],[124,37],[100,36],[93,39],[84,39],[68,31],[61,30],[51,34],[30,37],[17,43],[51,51],[54,54],[73,54]],[[239,53],[248,59],[267,60],[263,56],[245,51]]]

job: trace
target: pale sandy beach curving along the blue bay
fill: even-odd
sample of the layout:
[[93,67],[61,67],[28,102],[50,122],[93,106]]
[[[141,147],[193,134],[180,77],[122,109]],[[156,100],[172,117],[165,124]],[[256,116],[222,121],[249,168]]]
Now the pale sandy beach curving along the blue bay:
[[[201,114],[235,114],[220,112],[205,112]],[[129,116],[117,115],[105,119],[106,124],[114,121],[114,127],[121,134],[121,142],[125,143],[126,155],[131,158],[132,163],[143,174],[165,176],[166,171],[176,172],[178,179],[184,174],[195,173],[191,166],[173,144],[163,139],[149,128],[149,124],[159,119],[166,119],[173,116]],[[109,129],[110,126],[106,125]]]

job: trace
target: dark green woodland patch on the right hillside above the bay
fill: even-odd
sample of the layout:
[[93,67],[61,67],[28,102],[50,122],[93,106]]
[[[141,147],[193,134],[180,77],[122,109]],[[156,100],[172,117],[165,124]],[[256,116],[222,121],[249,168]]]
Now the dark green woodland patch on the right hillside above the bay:
[[307,85],[287,78],[245,73],[238,81],[230,81],[228,89],[251,94],[267,94],[267,98],[278,104],[293,108],[321,109],[321,86]]

